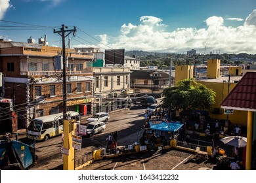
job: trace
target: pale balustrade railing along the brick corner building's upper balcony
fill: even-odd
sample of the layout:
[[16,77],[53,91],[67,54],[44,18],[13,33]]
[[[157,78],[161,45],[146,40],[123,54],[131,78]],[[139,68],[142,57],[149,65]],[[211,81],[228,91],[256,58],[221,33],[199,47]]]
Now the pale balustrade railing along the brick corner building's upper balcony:
[[[21,76],[56,76],[62,75],[62,71],[22,71],[20,72]],[[67,75],[85,75],[93,74],[93,70],[88,71],[66,71]]]

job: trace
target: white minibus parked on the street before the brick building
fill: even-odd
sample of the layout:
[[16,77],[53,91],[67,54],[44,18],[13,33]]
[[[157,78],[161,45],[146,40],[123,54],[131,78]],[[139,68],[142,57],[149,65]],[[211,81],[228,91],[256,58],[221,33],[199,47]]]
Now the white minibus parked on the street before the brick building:
[[[68,111],[67,114],[70,114],[75,122],[80,122],[78,112]],[[62,131],[63,112],[33,119],[28,126],[28,138],[35,139],[36,141],[48,141],[50,137],[62,134]]]

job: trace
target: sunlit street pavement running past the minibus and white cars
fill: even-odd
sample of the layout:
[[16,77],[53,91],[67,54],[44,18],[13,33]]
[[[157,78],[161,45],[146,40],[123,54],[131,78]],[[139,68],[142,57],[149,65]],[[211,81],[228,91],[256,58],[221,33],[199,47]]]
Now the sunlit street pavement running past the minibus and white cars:
[[[137,142],[137,132],[140,131],[144,122],[144,110],[144,108],[139,108],[112,112],[110,120],[106,122],[105,131],[91,138],[83,138],[82,149],[75,150],[75,157],[82,156],[100,147],[106,147],[106,137],[108,137],[109,133],[114,133],[115,131],[118,131],[118,145]],[[38,157],[37,163],[30,169],[61,169],[63,163],[62,154],[60,153],[61,144],[61,136],[53,137],[46,142],[37,142],[35,144],[35,152]]]

